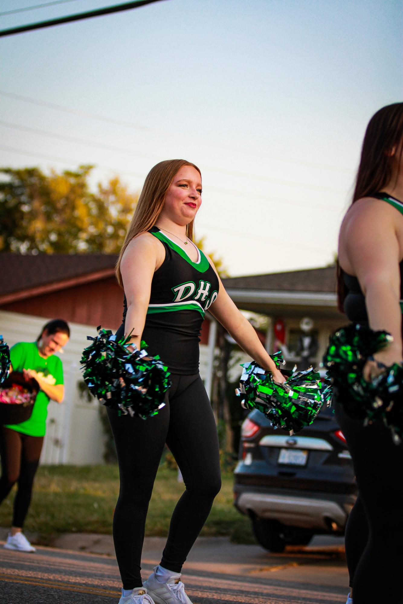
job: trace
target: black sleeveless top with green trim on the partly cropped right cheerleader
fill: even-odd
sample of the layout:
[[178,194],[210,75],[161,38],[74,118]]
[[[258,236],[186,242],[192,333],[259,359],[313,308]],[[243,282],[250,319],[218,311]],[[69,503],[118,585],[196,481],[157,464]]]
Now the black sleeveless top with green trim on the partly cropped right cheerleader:
[[[376,199],[381,199],[387,202],[387,204],[393,205],[401,214],[403,214],[403,202],[399,201],[387,193],[375,193],[371,195]],[[403,260],[400,263],[400,307],[403,312]],[[365,304],[365,296],[359,285],[359,281],[356,277],[347,274],[343,271],[343,280],[347,289],[347,295],[344,299],[344,312],[347,317],[353,323],[368,323],[367,308]]]

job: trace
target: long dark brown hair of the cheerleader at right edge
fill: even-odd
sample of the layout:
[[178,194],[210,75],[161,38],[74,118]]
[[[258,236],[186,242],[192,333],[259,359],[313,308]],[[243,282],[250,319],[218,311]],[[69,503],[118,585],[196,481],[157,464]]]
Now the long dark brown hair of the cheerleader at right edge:
[[[395,159],[391,152],[402,140],[403,103],[393,103],[379,109],[370,119],[364,136],[352,204],[358,199],[379,193],[390,183]],[[344,312],[346,294],[343,271],[337,261],[337,305],[341,312]]]

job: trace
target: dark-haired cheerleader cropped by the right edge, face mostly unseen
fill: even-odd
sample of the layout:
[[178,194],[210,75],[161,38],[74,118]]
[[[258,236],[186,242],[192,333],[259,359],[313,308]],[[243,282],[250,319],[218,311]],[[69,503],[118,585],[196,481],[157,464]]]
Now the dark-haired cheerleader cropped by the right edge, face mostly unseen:
[[[380,109],[363,143],[353,204],[340,230],[339,302],[354,323],[386,330],[393,342],[364,376],[401,363],[403,303],[403,103]],[[402,401],[403,402],[403,401]],[[348,401],[343,401],[347,407]],[[381,419],[364,427],[336,402],[359,496],[346,528],[350,604],[403,602],[403,445]]]

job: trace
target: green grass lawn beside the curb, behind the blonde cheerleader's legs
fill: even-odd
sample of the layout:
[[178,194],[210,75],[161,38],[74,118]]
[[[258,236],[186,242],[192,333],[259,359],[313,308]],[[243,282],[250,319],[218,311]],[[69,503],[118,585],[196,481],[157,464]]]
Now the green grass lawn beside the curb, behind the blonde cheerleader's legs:
[[[222,477],[222,489],[202,535],[228,535],[235,542],[253,543],[250,521],[233,507],[233,475]],[[117,466],[42,466],[37,472],[25,528],[50,544],[60,533],[111,533],[118,496]],[[147,516],[146,535],[166,536],[169,519],[184,486],[176,472],[162,465],[155,481]],[[0,506],[0,526],[11,522],[13,490]]]

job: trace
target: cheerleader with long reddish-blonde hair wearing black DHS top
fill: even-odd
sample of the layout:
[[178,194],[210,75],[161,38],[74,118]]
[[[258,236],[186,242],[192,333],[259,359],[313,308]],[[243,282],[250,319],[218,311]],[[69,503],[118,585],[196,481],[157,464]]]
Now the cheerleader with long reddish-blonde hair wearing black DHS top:
[[[285,378],[253,327],[231,301],[211,260],[193,243],[201,205],[201,173],[182,159],[160,162],[144,182],[118,260],[124,323],[131,343],[148,344],[171,372],[166,405],[146,421],[108,409],[120,469],[114,543],[123,582],[120,604],[191,604],[181,569],[221,488],[217,430],[199,376],[199,333],[208,309],[276,381]],[[160,565],[144,582],[144,525],[165,443],[182,472],[185,492],[172,515]]]

